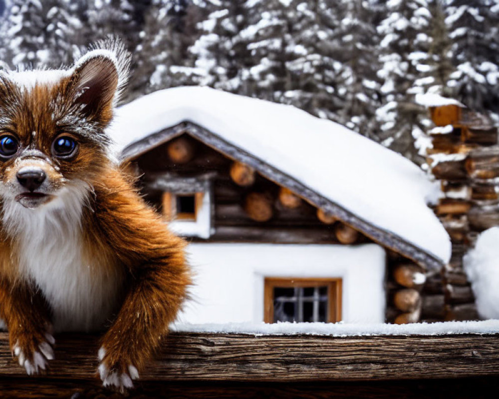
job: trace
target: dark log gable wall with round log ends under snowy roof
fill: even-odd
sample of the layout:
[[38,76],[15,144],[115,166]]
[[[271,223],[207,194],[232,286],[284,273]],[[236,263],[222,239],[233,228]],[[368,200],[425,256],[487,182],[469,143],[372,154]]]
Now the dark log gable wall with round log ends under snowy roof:
[[[172,161],[168,156],[170,143],[158,146],[136,161],[138,173],[142,176],[139,183],[146,200],[161,211],[162,192],[149,188],[149,183],[157,176],[166,171],[180,177],[193,177],[200,172],[212,173],[215,233],[208,241],[296,244],[334,244],[340,243],[340,240],[370,242],[362,234],[352,239],[354,234],[345,233],[339,221],[322,221],[315,206],[293,198],[289,191],[256,173],[251,174],[243,165],[234,163],[188,135],[179,139],[189,147],[191,160],[187,163]],[[338,233],[339,239],[336,230],[343,233]],[[193,238],[193,241],[196,240]]]

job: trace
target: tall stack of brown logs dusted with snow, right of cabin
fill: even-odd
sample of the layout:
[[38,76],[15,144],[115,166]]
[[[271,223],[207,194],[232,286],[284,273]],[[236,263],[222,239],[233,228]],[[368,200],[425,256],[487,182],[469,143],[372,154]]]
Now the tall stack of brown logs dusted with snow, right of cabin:
[[453,254],[443,272],[446,320],[478,318],[463,271],[463,255],[479,232],[499,225],[498,131],[486,115],[450,99],[429,105],[435,127],[428,131],[429,172],[441,181],[435,212],[451,236]]

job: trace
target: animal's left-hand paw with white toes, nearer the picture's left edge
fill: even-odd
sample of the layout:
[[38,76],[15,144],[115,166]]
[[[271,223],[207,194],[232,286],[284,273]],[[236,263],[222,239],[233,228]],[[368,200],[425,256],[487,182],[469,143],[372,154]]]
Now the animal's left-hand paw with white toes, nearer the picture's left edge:
[[45,340],[40,337],[22,337],[16,340],[12,346],[12,356],[16,357],[19,365],[24,367],[28,375],[40,373],[46,370],[48,361],[54,359],[52,345],[54,337],[46,333]]

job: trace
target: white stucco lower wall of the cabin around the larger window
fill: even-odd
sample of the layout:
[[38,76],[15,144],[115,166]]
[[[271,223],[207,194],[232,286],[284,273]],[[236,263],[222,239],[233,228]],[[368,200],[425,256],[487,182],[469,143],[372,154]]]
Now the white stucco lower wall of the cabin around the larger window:
[[181,323],[263,321],[264,277],[341,277],[346,323],[385,320],[385,251],[377,244],[192,243],[195,285]]

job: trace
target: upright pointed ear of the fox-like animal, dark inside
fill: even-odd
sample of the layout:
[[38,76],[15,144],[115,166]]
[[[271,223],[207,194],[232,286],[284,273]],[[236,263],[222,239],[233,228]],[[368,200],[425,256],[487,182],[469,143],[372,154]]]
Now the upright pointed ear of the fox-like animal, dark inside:
[[114,54],[107,50],[90,51],[73,67],[70,90],[74,104],[87,120],[105,127],[113,116],[118,83]]

